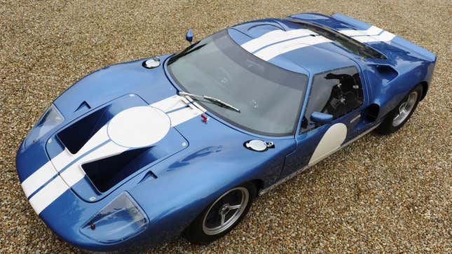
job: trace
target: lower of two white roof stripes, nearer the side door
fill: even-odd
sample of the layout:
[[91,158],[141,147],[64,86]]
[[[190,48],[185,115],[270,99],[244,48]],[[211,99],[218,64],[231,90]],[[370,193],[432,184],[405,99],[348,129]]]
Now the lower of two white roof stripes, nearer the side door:
[[267,48],[263,48],[262,50],[254,52],[254,55],[256,55],[256,57],[268,61],[273,57],[277,57],[278,55],[284,54],[285,52],[307,47],[310,45],[327,42],[330,42],[330,40],[323,36],[305,36],[290,41],[284,41],[282,43],[270,45]]

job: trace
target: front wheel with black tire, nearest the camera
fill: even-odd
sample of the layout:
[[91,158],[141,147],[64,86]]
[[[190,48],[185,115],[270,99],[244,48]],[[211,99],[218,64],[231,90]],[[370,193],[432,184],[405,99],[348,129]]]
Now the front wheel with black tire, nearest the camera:
[[223,237],[245,218],[256,193],[253,183],[238,185],[224,192],[193,220],[182,236],[192,244],[209,244]]

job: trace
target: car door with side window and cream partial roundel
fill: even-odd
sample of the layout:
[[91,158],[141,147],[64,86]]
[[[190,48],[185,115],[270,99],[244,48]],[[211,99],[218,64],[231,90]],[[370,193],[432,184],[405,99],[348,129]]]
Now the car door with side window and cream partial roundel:
[[[311,166],[352,139],[362,122],[364,92],[359,71],[355,66],[317,73],[313,77],[296,150],[287,155],[281,178],[297,169]],[[328,124],[310,120],[313,112],[333,115]]]

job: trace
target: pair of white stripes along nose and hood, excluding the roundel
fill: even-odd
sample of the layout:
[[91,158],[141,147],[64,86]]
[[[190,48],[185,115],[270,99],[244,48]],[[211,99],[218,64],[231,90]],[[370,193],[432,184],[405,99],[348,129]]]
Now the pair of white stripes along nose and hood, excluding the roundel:
[[[205,110],[200,110],[196,106],[193,106],[193,103],[190,103],[188,99],[179,95],[168,97],[150,106],[167,112],[172,127],[205,112]],[[22,182],[22,189],[27,197],[30,197],[30,195],[42,186],[41,190],[29,199],[36,213],[41,213],[43,209],[46,209],[60,195],[83,179],[85,171],[81,167],[82,164],[118,155],[130,149],[130,147],[120,146],[111,141],[107,129],[108,123],[99,129],[76,154],[71,154],[67,148],[64,149],[60,154],[53,157],[50,162],[44,164]],[[130,133],[130,137],[136,138],[133,136],[135,134]],[[121,138],[124,138],[124,136],[121,136]],[[125,135],[125,138],[127,138],[127,135]],[[163,137],[161,138],[163,139]],[[153,142],[157,142],[157,140]],[[69,164],[70,166],[68,167]],[[60,177],[55,177],[58,172],[60,172]],[[47,183],[52,178],[53,180]]]

